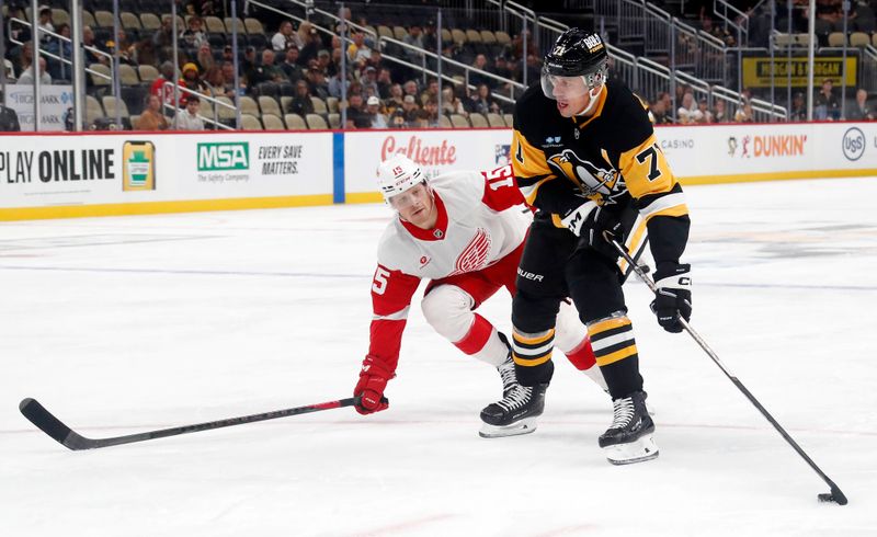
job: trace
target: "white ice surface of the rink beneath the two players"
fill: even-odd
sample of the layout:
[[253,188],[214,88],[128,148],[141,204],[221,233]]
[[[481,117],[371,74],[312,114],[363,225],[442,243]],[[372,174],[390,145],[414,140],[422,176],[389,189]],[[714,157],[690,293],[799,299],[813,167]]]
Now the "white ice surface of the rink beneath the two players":
[[[626,286],[661,455],[614,467],[562,355],[535,434],[482,439],[497,373],[418,308],[390,408],[69,452],[350,397],[381,205],[0,224],[0,536],[877,536],[877,180],[687,188],[692,324],[828,487]],[[422,293],[422,287],[421,292]],[[510,329],[508,296],[485,305]]]

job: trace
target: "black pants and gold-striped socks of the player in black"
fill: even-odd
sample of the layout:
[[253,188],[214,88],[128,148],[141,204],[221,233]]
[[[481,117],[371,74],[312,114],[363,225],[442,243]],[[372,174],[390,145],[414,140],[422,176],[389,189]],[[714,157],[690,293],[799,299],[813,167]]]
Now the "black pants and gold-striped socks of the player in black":
[[588,327],[596,364],[613,399],[642,389],[633,327],[627,318],[617,259],[580,245],[569,230],[537,218],[529,228],[512,302],[513,357],[524,386],[549,382],[554,374],[555,318],[572,298]]

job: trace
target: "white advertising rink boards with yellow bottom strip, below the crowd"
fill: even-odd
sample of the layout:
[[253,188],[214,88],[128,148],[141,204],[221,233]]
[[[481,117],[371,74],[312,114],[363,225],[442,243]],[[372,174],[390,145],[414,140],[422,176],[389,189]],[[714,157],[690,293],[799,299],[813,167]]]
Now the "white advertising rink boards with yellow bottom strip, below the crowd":
[[[668,126],[683,184],[877,175],[877,125]],[[510,162],[509,129],[112,133],[0,137],[0,220],[380,201],[394,153],[429,175]]]

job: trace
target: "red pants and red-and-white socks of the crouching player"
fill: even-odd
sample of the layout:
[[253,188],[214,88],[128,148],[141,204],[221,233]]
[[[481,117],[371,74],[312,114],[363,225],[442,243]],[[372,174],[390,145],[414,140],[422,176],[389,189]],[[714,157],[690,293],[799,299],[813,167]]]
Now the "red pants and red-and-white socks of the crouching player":
[[[475,310],[501,287],[515,295],[515,271],[523,251],[522,243],[487,268],[431,281],[421,301],[426,322],[465,354],[494,367],[502,365],[509,349],[493,324]],[[558,349],[578,369],[589,369],[594,358],[588,330],[571,305],[563,304],[556,315]]]

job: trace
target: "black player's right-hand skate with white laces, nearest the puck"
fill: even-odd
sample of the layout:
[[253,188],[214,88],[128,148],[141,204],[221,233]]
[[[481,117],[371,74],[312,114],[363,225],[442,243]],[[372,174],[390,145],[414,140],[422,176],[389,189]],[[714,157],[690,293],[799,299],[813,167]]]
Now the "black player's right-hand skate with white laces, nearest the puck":
[[646,409],[646,392],[635,391],[630,397],[615,399],[612,425],[600,436],[600,447],[613,465],[629,465],[658,456],[654,444],[654,422]]

